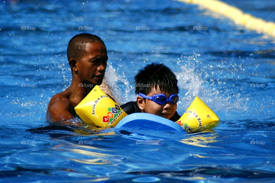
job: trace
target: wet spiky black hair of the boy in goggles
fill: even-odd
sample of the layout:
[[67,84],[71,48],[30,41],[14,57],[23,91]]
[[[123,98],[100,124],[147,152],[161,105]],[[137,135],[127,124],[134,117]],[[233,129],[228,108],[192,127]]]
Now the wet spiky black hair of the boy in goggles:
[[178,94],[178,80],[169,67],[163,63],[151,63],[140,69],[135,75],[135,94],[148,95],[153,87],[160,91]]

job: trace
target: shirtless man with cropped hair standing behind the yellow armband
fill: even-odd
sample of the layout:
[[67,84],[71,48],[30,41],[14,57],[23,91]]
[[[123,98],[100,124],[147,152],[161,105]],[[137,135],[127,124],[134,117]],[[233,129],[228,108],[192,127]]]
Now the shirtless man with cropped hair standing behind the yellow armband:
[[55,94],[48,105],[46,120],[65,121],[76,117],[74,107],[95,85],[101,85],[107,67],[107,49],[96,35],[75,35],[68,43],[67,56],[72,71],[72,83]]

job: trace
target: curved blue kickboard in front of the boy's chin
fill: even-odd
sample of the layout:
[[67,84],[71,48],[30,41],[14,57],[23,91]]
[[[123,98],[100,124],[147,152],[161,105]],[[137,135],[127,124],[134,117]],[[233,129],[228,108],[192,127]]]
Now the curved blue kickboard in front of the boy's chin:
[[166,118],[148,113],[134,113],[125,116],[115,128],[131,128],[138,127],[148,130],[165,130],[185,132],[184,129]]

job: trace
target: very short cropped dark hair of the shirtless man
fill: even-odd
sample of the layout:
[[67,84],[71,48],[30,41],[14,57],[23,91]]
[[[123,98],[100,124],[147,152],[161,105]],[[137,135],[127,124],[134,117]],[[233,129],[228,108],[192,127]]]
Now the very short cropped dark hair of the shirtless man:
[[85,44],[86,43],[101,43],[105,48],[105,44],[97,35],[82,33],[75,35],[68,43],[67,47],[67,57],[68,61],[72,58],[80,60],[85,53]]

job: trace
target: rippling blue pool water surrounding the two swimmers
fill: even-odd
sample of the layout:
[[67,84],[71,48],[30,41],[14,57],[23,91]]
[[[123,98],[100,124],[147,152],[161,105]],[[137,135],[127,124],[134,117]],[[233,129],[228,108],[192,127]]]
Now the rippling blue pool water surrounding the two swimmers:
[[[273,1],[224,2],[275,22]],[[275,182],[274,38],[169,0],[1,0],[0,13],[1,182]],[[158,61],[178,77],[179,114],[199,96],[220,125],[193,134],[49,125],[50,98],[71,82],[67,43],[83,32],[105,41],[119,103],[135,100],[135,73]]]

